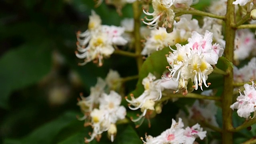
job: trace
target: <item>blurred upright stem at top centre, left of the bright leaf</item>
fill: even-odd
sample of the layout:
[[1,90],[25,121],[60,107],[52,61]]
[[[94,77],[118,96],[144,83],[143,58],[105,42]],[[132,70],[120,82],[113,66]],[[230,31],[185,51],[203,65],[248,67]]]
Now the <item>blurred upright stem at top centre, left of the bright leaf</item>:
[[142,13],[142,10],[140,8],[140,2],[136,0],[132,4],[133,8],[133,17],[134,17],[134,46],[135,46],[135,54],[137,55],[136,61],[137,61],[137,68],[138,71],[140,71],[140,68],[143,64],[143,58],[142,55],[140,54],[142,52],[142,46],[141,46],[141,38],[140,38],[140,16]]

